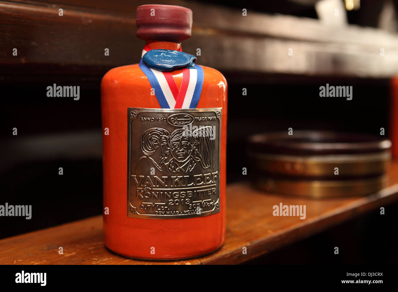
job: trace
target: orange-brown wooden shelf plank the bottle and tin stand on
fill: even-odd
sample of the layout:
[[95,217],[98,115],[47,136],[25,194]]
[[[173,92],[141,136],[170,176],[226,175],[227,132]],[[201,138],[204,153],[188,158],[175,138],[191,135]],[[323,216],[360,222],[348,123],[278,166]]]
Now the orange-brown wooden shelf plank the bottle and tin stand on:
[[[306,238],[330,226],[398,200],[398,161],[390,186],[367,197],[296,199],[265,194],[247,183],[227,187],[226,240],[218,251],[183,261],[139,261],[116,255],[103,245],[102,217],[96,216],[0,240],[0,264],[236,264]],[[306,219],[274,217],[272,206],[306,205]],[[58,253],[62,246],[63,254]],[[242,254],[242,248],[247,254]]]

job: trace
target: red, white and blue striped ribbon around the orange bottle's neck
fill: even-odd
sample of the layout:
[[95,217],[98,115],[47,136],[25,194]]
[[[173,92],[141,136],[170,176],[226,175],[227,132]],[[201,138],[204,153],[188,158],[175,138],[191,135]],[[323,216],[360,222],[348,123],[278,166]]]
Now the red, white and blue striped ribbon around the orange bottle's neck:
[[[148,50],[152,50],[152,48],[148,45],[144,46],[142,56]],[[154,89],[161,108],[196,108],[203,86],[203,68],[201,66],[194,64],[190,68],[182,70],[182,83],[178,90],[172,73],[149,68],[142,61],[142,56],[140,69]]]

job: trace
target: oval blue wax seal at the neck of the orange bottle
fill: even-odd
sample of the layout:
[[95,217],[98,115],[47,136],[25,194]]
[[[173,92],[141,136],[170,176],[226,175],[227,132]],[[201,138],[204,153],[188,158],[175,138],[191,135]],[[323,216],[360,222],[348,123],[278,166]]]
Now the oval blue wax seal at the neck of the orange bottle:
[[142,56],[142,61],[149,68],[166,72],[192,67],[196,57],[176,50],[149,50]]

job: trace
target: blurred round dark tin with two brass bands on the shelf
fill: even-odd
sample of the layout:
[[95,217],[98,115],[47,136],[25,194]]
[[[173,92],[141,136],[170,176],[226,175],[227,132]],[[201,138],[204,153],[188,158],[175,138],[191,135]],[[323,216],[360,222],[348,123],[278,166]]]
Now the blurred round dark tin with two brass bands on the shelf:
[[255,186],[267,192],[322,198],[368,195],[384,188],[391,142],[328,131],[253,135],[247,156]]

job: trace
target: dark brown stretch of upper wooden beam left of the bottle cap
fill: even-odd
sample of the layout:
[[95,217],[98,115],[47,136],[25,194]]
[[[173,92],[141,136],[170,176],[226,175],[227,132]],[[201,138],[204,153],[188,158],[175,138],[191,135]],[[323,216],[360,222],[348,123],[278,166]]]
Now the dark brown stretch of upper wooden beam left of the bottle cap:
[[[143,41],[132,41],[131,17],[78,10],[58,13],[58,8],[0,2],[1,72],[27,73],[35,68],[30,73],[103,75],[104,69],[133,63],[131,51],[142,49]],[[18,56],[12,55],[13,48]],[[109,56],[104,55],[105,48]]]

